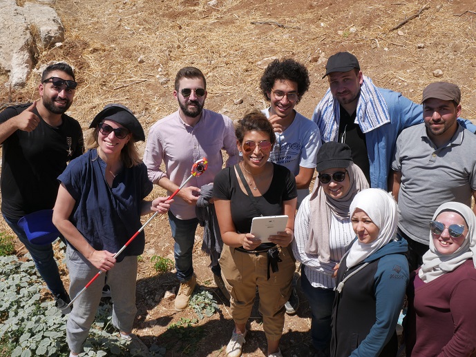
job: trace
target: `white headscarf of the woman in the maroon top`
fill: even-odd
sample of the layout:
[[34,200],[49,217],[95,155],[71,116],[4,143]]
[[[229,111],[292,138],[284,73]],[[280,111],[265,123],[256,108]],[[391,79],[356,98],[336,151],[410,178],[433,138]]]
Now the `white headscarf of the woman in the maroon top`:
[[433,243],[433,236],[430,232],[430,249],[423,255],[423,265],[418,272],[418,276],[425,283],[438,278],[439,276],[453,272],[459,265],[463,264],[468,259],[473,258],[473,264],[476,268],[476,216],[473,210],[464,203],[447,202],[443,203],[437,208],[433,215],[433,220],[444,211],[456,212],[464,218],[466,225],[468,225],[468,233],[464,239],[461,247],[453,254],[441,254],[435,248]]

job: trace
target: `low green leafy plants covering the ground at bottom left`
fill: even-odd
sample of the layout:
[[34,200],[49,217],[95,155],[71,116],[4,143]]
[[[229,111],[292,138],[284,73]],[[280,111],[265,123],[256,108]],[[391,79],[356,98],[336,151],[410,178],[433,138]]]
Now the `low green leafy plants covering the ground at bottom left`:
[[[16,256],[0,257],[0,355],[11,357],[69,356],[66,317],[53,301],[42,301],[35,264]],[[133,348],[120,340],[112,325],[112,307],[99,306],[84,352],[79,356],[132,356]],[[114,335],[113,335],[114,334]],[[152,345],[150,356],[165,350]]]

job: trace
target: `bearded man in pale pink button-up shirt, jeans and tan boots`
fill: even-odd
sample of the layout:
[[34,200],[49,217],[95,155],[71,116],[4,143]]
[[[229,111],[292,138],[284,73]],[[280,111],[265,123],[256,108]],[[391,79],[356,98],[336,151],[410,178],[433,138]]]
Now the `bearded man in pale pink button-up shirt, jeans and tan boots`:
[[[178,192],[169,211],[175,240],[176,276],[180,281],[175,309],[181,311],[187,307],[196,287],[192,251],[198,225],[195,207],[199,187],[213,183],[215,175],[222,170],[222,149],[229,155],[227,166],[238,162],[238,149],[231,119],[203,109],[207,81],[198,68],[185,67],[178,71],[173,96],[178,101],[178,111],[155,123],[149,132],[144,153],[149,179],[171,194],[190,176],[193,163],[202,157],[209,161],[207,171],[194,176]],[[162,163],[165,170],[160,169]],[[212,267],[212,270],[216,280],[221,280],[220,266]]]

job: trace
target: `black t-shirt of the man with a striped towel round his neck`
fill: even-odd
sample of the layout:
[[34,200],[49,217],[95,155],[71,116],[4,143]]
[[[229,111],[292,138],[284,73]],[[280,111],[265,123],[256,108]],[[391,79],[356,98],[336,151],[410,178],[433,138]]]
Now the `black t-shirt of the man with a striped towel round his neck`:
[[346,143],[352,150],[352,160],[365,174],[370,183],[370,163],[368,160],[367,142],[359,124],[354,123],[356,112],[350,115],[341,105],[341,121],[339,123],[339,143]]

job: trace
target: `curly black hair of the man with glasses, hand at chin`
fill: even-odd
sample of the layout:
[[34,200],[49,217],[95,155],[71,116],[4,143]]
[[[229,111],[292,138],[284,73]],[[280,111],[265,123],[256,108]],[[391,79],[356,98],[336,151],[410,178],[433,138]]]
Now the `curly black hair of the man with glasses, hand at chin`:
[[294,59],[282,59],[281,61],[275,59],[272,63],[269,63],[260,80],[260,88],[267,101],[269,101],[268,93],[271,92],[276,79],[287,79],[298,84],[297,103],[301,101],[311,84],[309,72],[307,72],[305,65],[294,61]]

